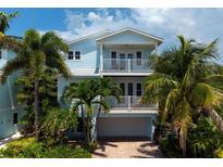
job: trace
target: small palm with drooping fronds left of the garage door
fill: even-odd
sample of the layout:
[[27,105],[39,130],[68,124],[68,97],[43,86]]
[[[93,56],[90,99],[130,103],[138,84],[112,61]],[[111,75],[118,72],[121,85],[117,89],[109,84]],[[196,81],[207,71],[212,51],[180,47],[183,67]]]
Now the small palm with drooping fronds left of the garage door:
[[[64,90],[63,99],[66,103],[73,103],[72,108],[77,110],[78,106],[86,106],[86,143],[90,143],[91,139],[91,118],[94,116],[94,106],[99,104],[99,108],[103,107],[104,112],[109,111],[109,105],[103,98],[99,97],[113,95],[119,97],[119,88],[109,78],[104,79],[85,79],[80,82],[72,84]],[[119,99],[119,98],[117,98]],[[100,110],[98,112],[100,112]],[[84,117],[84,107],[82,108]]]

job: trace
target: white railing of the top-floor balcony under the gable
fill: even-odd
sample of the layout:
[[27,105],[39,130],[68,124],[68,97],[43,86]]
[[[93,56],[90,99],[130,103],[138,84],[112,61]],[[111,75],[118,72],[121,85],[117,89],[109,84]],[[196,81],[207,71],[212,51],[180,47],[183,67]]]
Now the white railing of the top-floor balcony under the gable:
[[150,72],[147,59],[103,59],[103,72]]

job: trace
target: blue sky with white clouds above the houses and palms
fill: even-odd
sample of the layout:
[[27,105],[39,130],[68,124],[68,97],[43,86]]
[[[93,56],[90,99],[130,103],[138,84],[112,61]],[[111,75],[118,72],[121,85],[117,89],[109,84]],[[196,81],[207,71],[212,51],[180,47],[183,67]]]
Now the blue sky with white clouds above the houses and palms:
[[[177,35],[211,42],[219,38],[219,63],[223,64],[223,9],[0,9],[18,11],[8,35],[23,36],[28,28],[54,30],[64,40],[102,29],[133,27],[164,38],[159,51],[177,44]],[[222,57],[221,57],[222,56]]]

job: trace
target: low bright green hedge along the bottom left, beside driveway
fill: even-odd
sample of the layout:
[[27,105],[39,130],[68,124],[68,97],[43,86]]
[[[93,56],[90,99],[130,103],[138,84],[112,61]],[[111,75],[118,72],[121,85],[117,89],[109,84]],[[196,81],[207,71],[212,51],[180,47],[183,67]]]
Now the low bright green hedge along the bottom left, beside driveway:
[[80,146],[46,145],[34,138],[12,141],[0,150],[0,157],[15,158],[90,158],[91,154]]

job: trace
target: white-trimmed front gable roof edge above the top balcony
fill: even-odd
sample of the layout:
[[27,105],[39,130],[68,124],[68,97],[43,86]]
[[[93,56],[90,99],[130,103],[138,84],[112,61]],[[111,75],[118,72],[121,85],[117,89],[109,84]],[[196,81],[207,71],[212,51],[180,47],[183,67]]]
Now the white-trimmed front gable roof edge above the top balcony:
[[101,36],[101,37],[97,38],[96,41],[100,41],[102,39],[109,38],[111,36],[114,36],[114,35],[117,35],[117,34],[121,34],[121,33],[124,33],[124,31],[133,31],[135,34],[139,34],[139,35],[145,36],[145,37],[152,38],[152,39],[157,40],[159,44],[161,44],[163,42],[163,38],[160,38],[160,37],[157,37],[157,36],[153,36],[153,35],[149,35],[147,33],[144,33],[141,30],[131,28],[131,27],[123,28],[123,29],[120,29],[117,31],[113,31],[113,33],[110,33],[108,35]]

